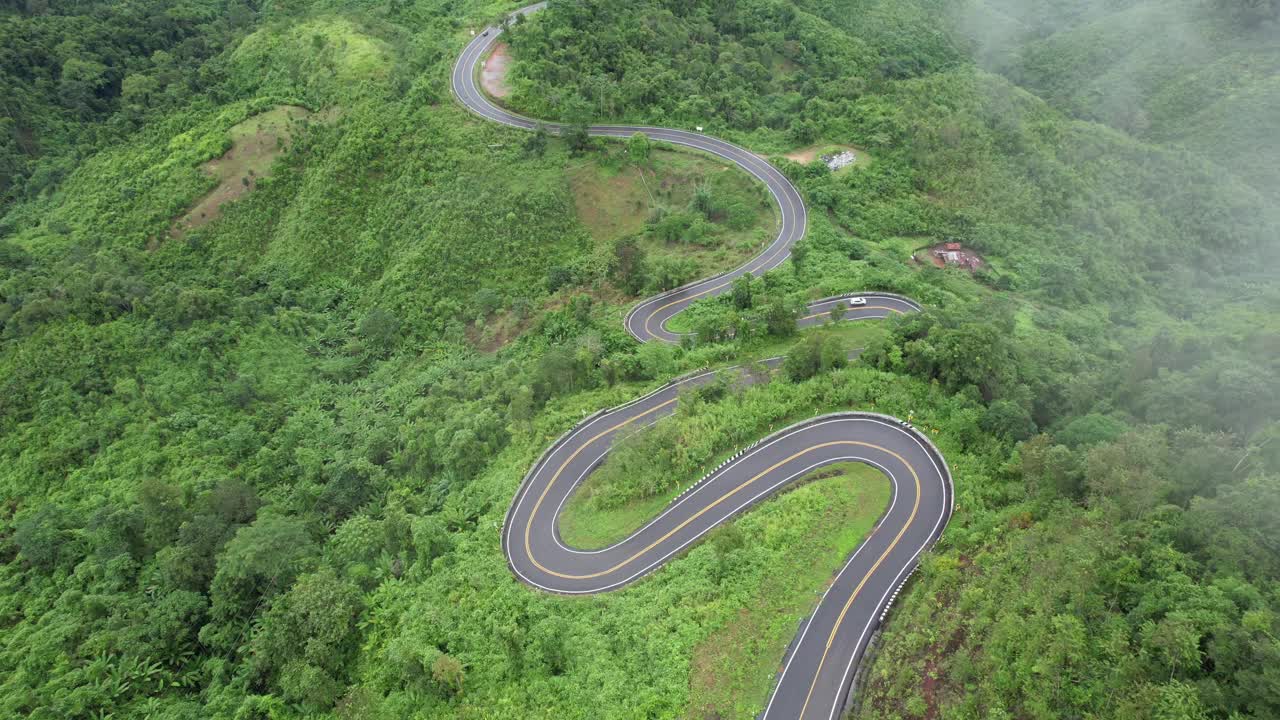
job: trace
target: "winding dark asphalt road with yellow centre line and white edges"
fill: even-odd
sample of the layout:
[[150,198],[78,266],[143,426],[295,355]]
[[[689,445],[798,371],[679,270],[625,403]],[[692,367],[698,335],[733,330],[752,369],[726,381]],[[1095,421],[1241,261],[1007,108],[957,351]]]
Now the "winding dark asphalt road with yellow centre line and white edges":
[[[531,13],[545,4],[530,5]],[[539,123],[497,106],[480,90],[476,74],[500,28],[488,28],[466,46],[453,68],[453,91],[474,113],[493,122],[548,132]],[[640,127],[591,126],[593,136],[626,138],[644,132],[650,140],[685,145],[728,160],[765,184],[780,211],[778,234],[740,268],[644,300],[626,316],[627,331],[641,342],[676,342],[667,320],[701,297],[727,292],[733,278],[759,275],[778,266],[804,237],[806,213],[795,187],[777,168],[748,150],[699,132]],[[913,313],[910,299],[868,292],[865,305],[850,306],[845,319]],[[824,322],[849,297],[809,305],[800,325]],[[773,361],[772,364],[777,364]],[[748,369],[737,382],[759,379]],[[785,428],[740,451],[676,498],[660,515],[611,547],[582,551],[567,547],[557,518],[573,489],[609,452],[613,441],[675,410],[680,392],[710,382],[705,372],[668,383],[626,405],[600,411],[558,439],[525,477],[503,525],[502,544],[512,571],[548,592],[589,594],[622,588],[659,569],[721,523],[769,497],[791,480],[833,462],[859,461],[882,470],[892,483],[892,500],[872,534],[846,560],[792,642],[765,719],[837,717],[846,705],[858,661],[897,589],[946,525],[954,507],[951,474],[933,445],[902,421],[869,413],[838,413]]]

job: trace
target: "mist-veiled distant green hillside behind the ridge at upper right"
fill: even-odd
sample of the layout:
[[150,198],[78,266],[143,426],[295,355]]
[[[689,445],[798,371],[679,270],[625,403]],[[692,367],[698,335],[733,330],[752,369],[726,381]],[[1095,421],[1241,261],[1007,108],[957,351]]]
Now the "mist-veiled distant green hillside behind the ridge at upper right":
[[954,13],[979,63],[1073,115],[1180,145],[1280,193],[1280,4],[974,0]]

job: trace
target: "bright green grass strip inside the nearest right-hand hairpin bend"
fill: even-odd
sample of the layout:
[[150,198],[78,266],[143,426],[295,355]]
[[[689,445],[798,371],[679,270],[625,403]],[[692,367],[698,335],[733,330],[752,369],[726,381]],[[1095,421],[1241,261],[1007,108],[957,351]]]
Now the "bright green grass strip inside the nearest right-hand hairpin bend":
[[800,483],[808,484],[769,502],[815,512],[815,519],[778,557],[787,571],[767,577],[744,609],[694,650],[690,717],[754,717],[764,707],[796,625],[890,497],[888,479],[860,462],[824,468]]

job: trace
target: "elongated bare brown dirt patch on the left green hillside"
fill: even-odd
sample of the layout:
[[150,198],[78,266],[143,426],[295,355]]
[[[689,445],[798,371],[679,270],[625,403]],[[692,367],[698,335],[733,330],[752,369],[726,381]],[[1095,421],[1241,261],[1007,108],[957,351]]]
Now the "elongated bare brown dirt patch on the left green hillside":
[[325,122],[329,114],[312,114],[297,105],[278,105],[232,127],[232,149],[201,165],[202,170],[218,178],[218,187],[177,218],[169,236],[182,237],[187,231],[214,222],[221,215],[224,205],[253,190],[260,178],[270,174],[271,163],[284,152],[298,124],[307,118]]

